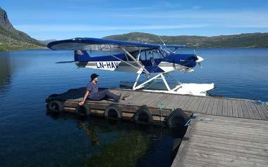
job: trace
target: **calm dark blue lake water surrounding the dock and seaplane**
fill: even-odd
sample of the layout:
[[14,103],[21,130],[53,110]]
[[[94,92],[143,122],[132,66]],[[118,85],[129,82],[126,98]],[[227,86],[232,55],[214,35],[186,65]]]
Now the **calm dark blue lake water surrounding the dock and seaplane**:
[[[268,49],[198,49],[203,67],[172,75],[182,82],[215,83],[212,95],[268,101]],[[169,166],[181,133],[72,114],[46,114],[53,93],[134,81],[133,74],[77,68],[72,51],[0,52],[0,166]]]

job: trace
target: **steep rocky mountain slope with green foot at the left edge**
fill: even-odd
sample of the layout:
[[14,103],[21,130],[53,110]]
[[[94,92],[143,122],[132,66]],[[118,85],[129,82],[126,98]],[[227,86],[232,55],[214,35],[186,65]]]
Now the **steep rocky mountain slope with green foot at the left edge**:
[[4,9],[0,8],[0,51],[45,47],[36,39],[13,27]]

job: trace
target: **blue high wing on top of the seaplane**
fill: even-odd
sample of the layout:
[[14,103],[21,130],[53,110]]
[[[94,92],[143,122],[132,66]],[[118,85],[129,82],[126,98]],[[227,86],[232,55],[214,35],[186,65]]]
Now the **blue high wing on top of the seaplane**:
[[[117,41],[96,38],[74,38],[53,41],[47,45],[52,50],[80,50],[80,51],[144,51],[161,48],[158,44],[143,44],[130,41]],[[184,48],[183,45],[165,45],[166,48]]]

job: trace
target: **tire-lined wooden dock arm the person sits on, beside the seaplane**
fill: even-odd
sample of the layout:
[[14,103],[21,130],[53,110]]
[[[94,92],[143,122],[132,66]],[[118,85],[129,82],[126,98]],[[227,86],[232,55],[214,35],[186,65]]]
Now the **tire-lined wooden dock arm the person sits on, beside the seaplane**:
[[[76,91],[70,90],[69,93],[63,93],[65,96],[64,100],[66,110],[73,110],[78,102],[82,100],[84,89],[80,88],[74,90]],[[124,95],[131,95],[128,100],[119,102],[118,105],[126,105],[132,107],[147,105],[148,107],[156,109],[156,112],[159,112],[159,105],[162,105],[163,108],[167,110],[181,108],[185,112],[230,116],[245,119],[268,120],[268,106],[257,104],[255,100],[151,93],[116,88],[109,90],[115,94],[123,93]],[[91,103],[91,105],[98,103],[103,105],[103,107],[106,107],[113,103],[112,101],[108,100],[88,102]],[[163,113],[165,114],[165,112]]]

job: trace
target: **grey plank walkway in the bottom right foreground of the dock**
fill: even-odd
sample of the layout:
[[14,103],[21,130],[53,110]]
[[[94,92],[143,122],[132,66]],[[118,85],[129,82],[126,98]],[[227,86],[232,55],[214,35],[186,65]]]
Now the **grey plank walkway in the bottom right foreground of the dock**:
[[186,131],[172,167],[268,166],[268,121],[202,114]]

